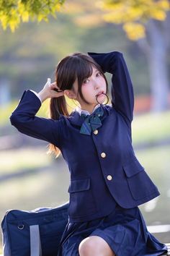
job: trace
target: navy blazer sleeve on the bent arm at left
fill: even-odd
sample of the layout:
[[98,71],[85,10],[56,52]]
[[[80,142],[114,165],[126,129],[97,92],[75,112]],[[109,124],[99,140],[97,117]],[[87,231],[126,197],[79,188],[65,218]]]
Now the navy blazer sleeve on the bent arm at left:
[[45,119],[35,116],[41,106],[35,93],[24,91],[19,105],[12,112],[10,121],[19,132],[39,140],[45,140],[60,148],[61,120]]

